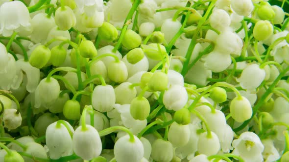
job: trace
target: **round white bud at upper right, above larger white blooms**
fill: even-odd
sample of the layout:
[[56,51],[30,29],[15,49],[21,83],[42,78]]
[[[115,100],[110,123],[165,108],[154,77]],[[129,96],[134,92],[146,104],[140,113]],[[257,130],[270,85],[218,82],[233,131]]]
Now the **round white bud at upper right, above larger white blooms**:
[[214,10],[209,20],[211,26],[221,32],[227,30],[231,24],[229,14],[222,9]]

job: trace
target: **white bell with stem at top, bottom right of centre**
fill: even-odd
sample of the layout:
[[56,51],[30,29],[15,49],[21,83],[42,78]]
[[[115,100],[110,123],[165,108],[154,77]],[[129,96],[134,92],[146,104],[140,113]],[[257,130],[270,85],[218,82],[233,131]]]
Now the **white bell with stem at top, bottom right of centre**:
[[208,132],[199,135],[197,150],[200,154],[207,156],[215,155],[220,150],[220,142],[217,135],[211,132],[211,137],[208,137]]

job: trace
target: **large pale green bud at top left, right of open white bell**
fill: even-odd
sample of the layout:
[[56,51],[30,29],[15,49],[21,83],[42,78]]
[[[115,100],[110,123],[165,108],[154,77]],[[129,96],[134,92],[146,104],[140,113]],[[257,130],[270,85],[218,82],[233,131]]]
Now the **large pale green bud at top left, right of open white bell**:
[[72,9],[68,6],[59,7],[55,11],[55,24],[61,30],[68,30],[76,24],[76,17]]

